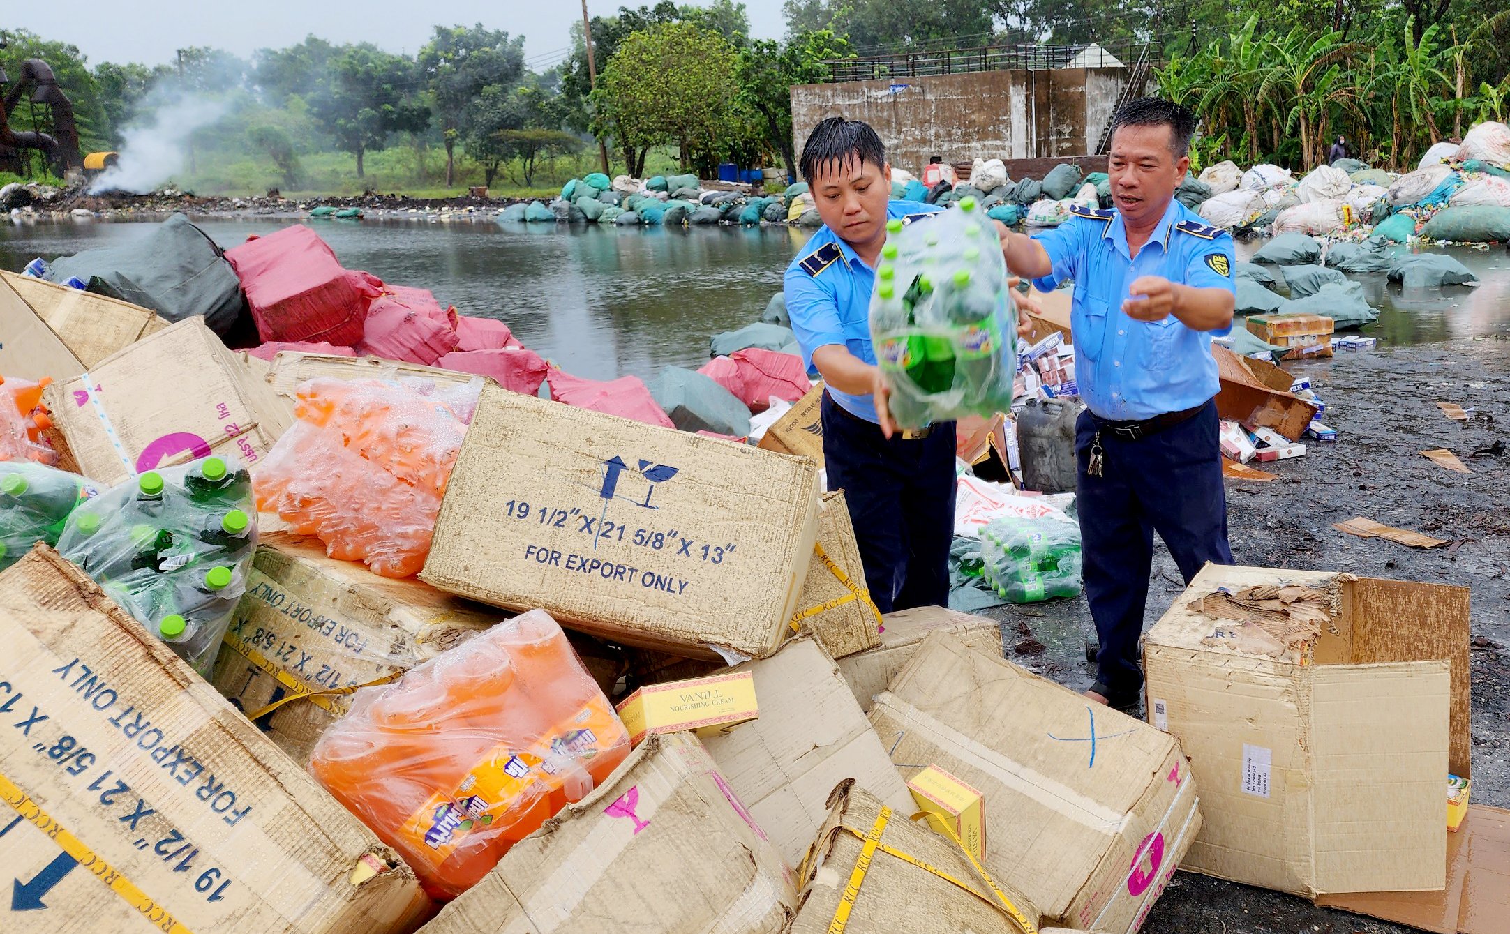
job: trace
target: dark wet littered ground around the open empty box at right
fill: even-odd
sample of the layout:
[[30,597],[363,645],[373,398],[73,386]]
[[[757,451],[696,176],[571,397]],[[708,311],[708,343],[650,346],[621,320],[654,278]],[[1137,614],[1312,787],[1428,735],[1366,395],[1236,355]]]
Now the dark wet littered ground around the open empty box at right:
[[[1472,593],[1474,801],[1510,807],[1510,335],[1287,364],[1327,403],[1335,444],[1308,444],[1297,460],[1255,465],[1280,478],[1228,480],[1232,554],[1240,564],[1347,570],[1457,584]],[[1474,409],[1466,422],[1436,401]],[[1496,451],[1474,456],[1474,451]],[[1472,474],[1419,454],[1454,451]],[[1333,522],[1367,516],[1447,539],[1428,551],[1357,539]],[[1154,558],[1148,625],[1184,591],[1163,545]],[[1084,598],[998,607],[1007,655],[1081,690],[1093,667]],[[1042,643],[1042,647],[1039,647]],[[1019,653],[1025,652],[1025,653]],[[1148,934],[1350,934],[1410,931],[1300,898],[1181,872],[1158,901]]]

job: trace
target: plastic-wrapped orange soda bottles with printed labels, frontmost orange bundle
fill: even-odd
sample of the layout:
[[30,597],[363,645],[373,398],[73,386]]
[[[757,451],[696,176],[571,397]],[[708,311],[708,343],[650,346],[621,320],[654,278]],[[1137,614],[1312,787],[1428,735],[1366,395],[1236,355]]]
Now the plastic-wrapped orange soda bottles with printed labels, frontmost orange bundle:
[[444,899],[584,798],[628,751],[628,732],[566,634],[532,610],[396,684],[358,691],[310,771]]

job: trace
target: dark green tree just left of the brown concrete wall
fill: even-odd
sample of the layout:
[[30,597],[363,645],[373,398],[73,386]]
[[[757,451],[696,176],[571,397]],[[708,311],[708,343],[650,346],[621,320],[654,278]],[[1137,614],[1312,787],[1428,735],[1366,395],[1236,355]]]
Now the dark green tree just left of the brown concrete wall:
[[827,62],[852,54],[849,41],[826,29],[799,33],[784,47],[761,39],[740,50],[740,100],[758,115],[764,140],[781,154],[788,175],[797,174],[791,139],[791,86],[827,80]]

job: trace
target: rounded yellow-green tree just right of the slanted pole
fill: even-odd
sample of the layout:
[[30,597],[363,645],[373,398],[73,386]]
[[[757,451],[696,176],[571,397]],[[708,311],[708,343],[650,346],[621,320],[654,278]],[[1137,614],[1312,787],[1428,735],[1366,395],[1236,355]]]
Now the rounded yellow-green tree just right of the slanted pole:
[[624,146],[631,175],[645,152],[676,142],[683,167],[711,142],[738,95],[734,47],[692,23],[654,26],[630,35],[601,75],[593,101],[598,131]]

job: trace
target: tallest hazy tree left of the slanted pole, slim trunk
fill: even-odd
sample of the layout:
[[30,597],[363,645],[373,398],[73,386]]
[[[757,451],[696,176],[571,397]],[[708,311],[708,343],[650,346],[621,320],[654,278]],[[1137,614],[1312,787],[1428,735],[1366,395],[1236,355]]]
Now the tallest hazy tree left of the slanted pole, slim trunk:
[[[445,146],[445,187],[456,180],[456,142],[465,133],[468,107],[479,101],[485,89],[507,91],[524,74],[524,36],[473,27],[436,26],[433,38],[418,54],[435,119],[439,122]],[[491,181],[489,181],[491,184]]]

